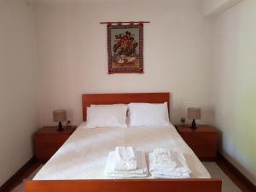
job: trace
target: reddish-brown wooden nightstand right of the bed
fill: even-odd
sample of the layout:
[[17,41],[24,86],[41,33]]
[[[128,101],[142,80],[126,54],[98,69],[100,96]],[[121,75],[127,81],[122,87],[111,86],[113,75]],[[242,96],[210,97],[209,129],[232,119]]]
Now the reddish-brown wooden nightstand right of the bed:
[[201,160],[215,160],[218,153],[218,130],[211,125],[175,125],[183,140]]

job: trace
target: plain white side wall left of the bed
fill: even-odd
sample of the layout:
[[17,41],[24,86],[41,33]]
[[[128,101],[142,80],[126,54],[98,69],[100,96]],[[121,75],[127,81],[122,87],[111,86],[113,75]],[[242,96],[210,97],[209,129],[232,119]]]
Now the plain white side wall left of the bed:
[[0,186],[32,157],[38,128],[32,7],[0,0]]

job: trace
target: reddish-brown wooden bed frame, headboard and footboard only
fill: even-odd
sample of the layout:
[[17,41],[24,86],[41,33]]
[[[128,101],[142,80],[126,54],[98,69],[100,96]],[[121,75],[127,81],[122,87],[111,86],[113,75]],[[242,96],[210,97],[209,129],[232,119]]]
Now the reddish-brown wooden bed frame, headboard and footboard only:
[[[83,119],[90,104],[168,102],[170,93],[84,94]],[[221,192],[218,178],[190,179],[88,179],[26,181],[26,192]]]

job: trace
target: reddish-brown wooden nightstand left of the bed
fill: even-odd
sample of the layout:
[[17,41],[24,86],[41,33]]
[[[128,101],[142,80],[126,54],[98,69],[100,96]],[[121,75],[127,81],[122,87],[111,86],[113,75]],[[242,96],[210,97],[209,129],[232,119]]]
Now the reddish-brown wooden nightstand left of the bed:
[[35,152],[38,160],[46,161],[61,148],[75,131],[76,126],[68,126],[57,131],[56,126],[44,126],[34,134]]

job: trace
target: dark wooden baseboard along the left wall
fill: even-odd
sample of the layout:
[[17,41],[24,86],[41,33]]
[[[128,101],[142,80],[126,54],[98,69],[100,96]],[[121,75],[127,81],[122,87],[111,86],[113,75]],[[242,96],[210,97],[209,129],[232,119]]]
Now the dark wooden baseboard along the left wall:
[[24,170],[26,170],[29,166],[31,166],[34,162],[36,162],[36,160],[37,159],[35,156],[33,156],[30,160],[28,160],[26,164],[22,166],[18,172],[15,172],[15,174],[12,177],[10,177],[5,183],[3,183],[3,185],[0,187],[0,192],[7,191],[9,188],[9,185],[13,183],[16,178],[20,177],[21,172],[24,172]]

